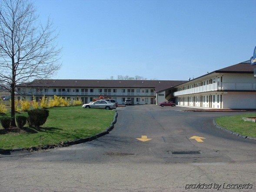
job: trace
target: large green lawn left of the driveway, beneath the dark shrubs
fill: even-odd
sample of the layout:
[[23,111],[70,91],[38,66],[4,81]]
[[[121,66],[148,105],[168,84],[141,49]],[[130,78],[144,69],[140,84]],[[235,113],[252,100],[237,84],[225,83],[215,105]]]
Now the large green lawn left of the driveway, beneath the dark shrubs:
[[[30,132],[0,135],[0,148],[46,146],[94,136],[110,126],[115,114],[113,110],[83,109],[81,106],[56,107],[49,111],[50,115],[42,129],[25,127]],[[0,129],[3,129],[1,125]]]

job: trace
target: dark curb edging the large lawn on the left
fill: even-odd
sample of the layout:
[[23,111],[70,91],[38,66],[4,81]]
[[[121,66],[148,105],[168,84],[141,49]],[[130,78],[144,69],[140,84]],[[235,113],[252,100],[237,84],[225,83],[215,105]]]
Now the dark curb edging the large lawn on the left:
[[109,132],[114,129],[114,124],[116,124],[117,116],[118,116],[118,113],[116,112],[110,126],[107,127],[105,131],[100,132],[100,133],[96,134],[95,136],[87,137],[87,138],[84,138],[84,139],[76,139],[76,140],[73,140],[73,141],[61,142],[59,144],[47,145],[47,146],[42,146],[42,147],[18,148],[18,149],[0,149],[0,152],[1,153],[7,153],[7,152],[15,152],[15,151],[38,151],[40,149],[53,149],[53,148],[56,148],[56,147],[67,147],[67,146],[80,144],[80,143],[83,143],[83,142],[92,141],[92,140],[97,139],[99,137],[102,137],[106,134],[109,134]]

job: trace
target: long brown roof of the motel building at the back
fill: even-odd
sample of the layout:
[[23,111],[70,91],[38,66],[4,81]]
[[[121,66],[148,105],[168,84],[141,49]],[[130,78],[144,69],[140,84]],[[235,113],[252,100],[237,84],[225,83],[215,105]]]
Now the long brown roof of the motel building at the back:
[[100,79],[43,79],[19,86],[29,87],[106,87],[106,88],[155,88],[156,91],[185,83],[177,80],[100,80]]

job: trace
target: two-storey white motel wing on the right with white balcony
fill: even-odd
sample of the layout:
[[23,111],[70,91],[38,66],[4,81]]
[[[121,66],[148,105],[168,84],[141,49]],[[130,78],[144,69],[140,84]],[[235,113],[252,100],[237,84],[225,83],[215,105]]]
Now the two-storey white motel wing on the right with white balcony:
[[256,109],[256,65],[250,60],[156,92],[157,103],[214,109]]

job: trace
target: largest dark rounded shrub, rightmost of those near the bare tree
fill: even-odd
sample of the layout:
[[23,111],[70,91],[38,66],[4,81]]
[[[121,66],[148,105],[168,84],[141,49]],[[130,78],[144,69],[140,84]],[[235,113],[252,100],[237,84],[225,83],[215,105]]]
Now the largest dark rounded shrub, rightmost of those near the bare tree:
[[49,116],[49,110],[47,109],[33,109],[27,112],[27,122],[29,126],[40,127],[42,126]]

